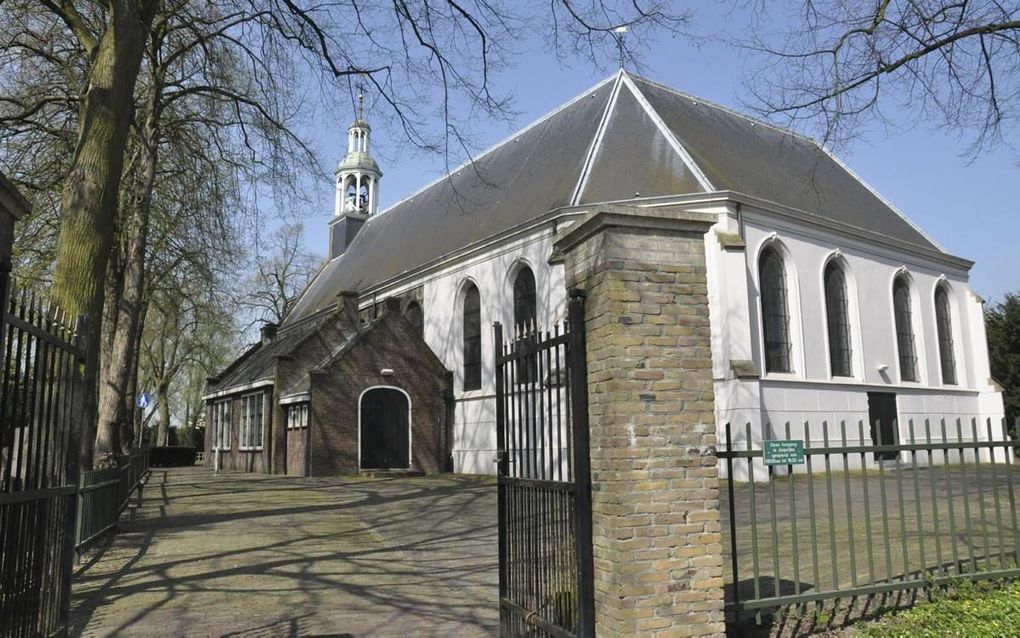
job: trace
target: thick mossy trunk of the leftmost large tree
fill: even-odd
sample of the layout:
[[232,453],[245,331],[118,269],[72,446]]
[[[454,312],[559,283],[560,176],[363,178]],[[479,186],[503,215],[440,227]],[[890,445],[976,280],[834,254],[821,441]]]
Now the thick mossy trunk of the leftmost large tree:
[[93,447],[98,403],[103,288],[113,246],[113,223],[134,108],[135,83],[156,2],[113,0],[108,23],[90,51],[88,89],[82,98],[78,142],[61,199],[53,293],[71,314],[89,317],[85,396],[80,441],[83,465],[94,453],[114,452],[110,441]]

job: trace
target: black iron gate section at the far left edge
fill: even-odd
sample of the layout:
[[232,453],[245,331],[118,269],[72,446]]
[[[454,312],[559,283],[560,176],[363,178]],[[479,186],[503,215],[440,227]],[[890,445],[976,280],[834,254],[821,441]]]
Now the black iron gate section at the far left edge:
[[0,635],[66,627],[84,347],[41,298],[6,293],[0,322]]

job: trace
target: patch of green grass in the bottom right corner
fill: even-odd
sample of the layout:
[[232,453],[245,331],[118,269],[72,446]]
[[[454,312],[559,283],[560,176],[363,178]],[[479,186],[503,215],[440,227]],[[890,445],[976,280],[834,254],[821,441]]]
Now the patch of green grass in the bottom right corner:
[[864,638],[1020,636],[1020,581],[963,582],[930,602],[861,625]]

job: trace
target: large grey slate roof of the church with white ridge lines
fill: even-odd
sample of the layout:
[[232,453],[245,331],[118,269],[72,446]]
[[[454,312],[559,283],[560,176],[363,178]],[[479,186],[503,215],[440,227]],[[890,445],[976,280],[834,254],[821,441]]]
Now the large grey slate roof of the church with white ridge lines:
[[[572,200],[594,146],[584,188]],[[322,267],[285,326],[330,305],[340,291],[364,291],[560,206],[706,190],[736,191],[938,248],[815,142],[618,73],[368,219],[347,252]]]

